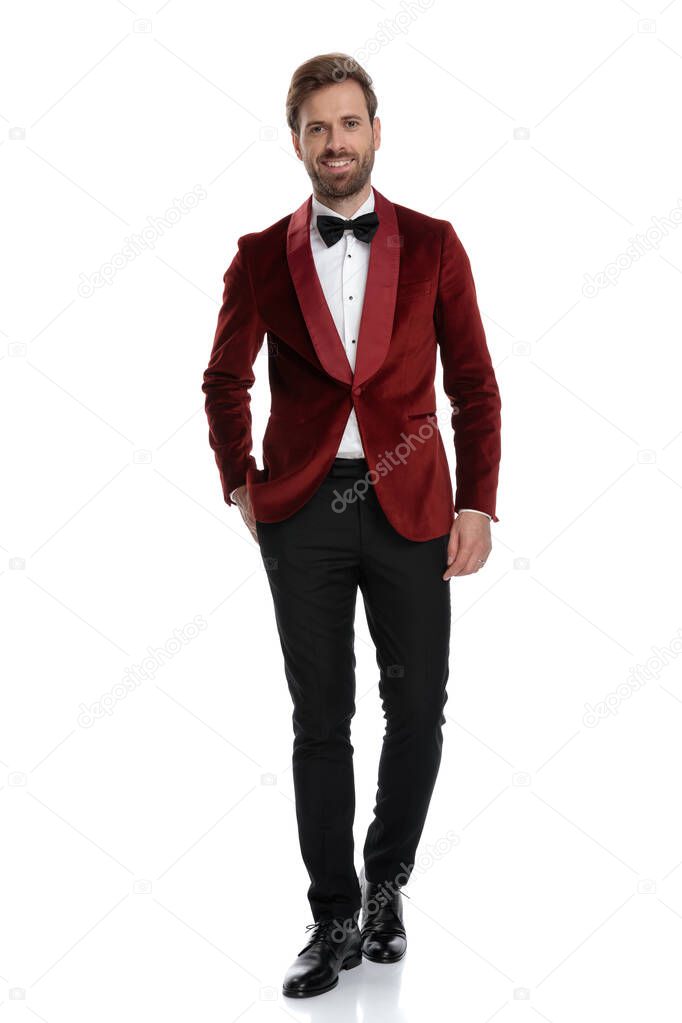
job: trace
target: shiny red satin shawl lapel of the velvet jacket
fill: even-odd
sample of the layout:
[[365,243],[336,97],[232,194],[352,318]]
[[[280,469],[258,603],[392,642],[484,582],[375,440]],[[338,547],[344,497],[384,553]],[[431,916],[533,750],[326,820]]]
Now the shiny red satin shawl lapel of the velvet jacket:
[[330,376],[356,387],[375,373],[387,357],[398,294],[401,244],[396,209],[376,188],[373,191],[379,226],[369,247],[355,377],[324,298],[310,247],[312,196],[291,215],[286,232],[289,272],[317,357]]

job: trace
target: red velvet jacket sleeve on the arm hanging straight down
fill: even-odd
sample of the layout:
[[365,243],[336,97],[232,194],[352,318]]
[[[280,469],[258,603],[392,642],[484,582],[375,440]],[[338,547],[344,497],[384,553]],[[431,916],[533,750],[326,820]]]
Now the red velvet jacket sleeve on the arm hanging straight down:
[[452,406],[455,511],[478,508],[493,522],[501,453],[501,401],[486,343],[469,259],[443,221],[441,272],[434,313],[443,386]]

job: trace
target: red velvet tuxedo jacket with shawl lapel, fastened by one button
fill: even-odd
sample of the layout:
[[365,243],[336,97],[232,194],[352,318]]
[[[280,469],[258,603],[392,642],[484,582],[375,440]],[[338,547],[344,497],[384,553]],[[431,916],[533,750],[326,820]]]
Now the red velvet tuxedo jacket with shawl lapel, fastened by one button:
[[[230,491],[245,482],[258,521],[293,515],[329,471],[355,407],[367,483],[399,533],[411,540],[443,536],[460,508],[497,522],[500,396],[469,260],[454,228],[374,188],[379,226],[354,373],[317,276],[311,209],[309,196],[295,213],[238,238],[223,278],[201,390],[226,502],[234,503]],[[249,388],[266,335],[271,411],[259,469]],[[454,500],[436,420],[439,350],[452,407]]]

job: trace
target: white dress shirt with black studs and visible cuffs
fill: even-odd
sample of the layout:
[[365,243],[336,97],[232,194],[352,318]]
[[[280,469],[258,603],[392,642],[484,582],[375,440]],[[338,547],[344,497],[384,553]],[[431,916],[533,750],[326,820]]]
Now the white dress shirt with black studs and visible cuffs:
[[[312,203],[310,247],[313,253],[315,269],[317,270],[329,312],[338,331],[338,337],[346,349],[351,369],[354,370],[358,351],[360,319],[365,299],[367,271],[369,270],[369,249],[371,242],[361,241],[359,238],[356,238],[349,227],[344,231],[338,241],[333,246],[327,247],[317,229],[317,217],[320,214],[325,214],[329,217],[339,217],[343,215],[324,206],[315,195],[312,196]],[[374,189],[372,188],[365,202],[355,211],[353,216],[344,217],[344,220],[354,220],[356,217],[361,217],[364,213],[371,213],[373,209]],[[336,457],[365,457],[354,408],[351,409],[348,417]],[[235,490],[230,494],[232,499],[234,499]],[[474,511],[476,509],[461,508],[460,510]],[[488,519],[491,518],[486,511],[480,511],[479,515],[485,515]]]

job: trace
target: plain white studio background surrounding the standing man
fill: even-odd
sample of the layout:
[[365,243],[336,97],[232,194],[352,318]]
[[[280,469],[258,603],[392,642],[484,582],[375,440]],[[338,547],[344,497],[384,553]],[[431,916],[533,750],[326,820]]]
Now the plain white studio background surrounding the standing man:
[[[682,209],[682,2],[437,0],[401,31],[406,9],[3,7],[3,1020],[680,1018],[682,226],[652,218]],[[310,193],[284,98],[330,50],[374,80],[373,184],[469,254],[503,461],[494,552],[451,584],[408,955],[293,1003],[291,704],[200,385],[237,237]],[[358,850],[383,727],[361,606]]]

